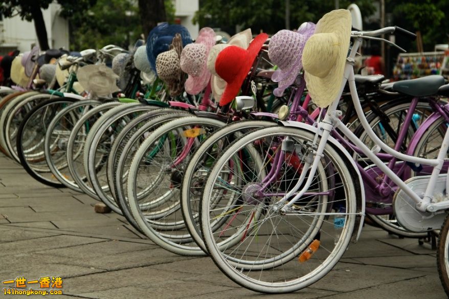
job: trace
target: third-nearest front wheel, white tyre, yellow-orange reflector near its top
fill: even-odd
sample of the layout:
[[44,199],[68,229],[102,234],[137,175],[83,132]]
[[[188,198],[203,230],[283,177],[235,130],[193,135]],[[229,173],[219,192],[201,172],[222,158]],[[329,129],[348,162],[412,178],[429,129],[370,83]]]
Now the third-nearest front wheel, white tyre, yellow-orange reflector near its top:
[[127,181],[129,210],[141,231],[164,249],[204,255],[186,229],[179,187],[188,157],[207,135],[225,124],[201,117],[173,120],[149,135],[132,159]]

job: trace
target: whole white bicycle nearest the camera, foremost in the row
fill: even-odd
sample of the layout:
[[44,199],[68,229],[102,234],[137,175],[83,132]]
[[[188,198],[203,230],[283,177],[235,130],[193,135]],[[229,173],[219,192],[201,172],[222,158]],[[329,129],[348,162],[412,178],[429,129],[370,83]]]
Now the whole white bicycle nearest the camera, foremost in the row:
[[[326,16],[344,13],[340,10]],[[356,93],[352,62],[362,39],[395,31],[410,37],[414,35],[398,27],[351,33],[350,21],[344,28],[347,44],[350,36],[355,41],[349,57],[343,59],[341,88],[334,90],[336,96],[333,94],[330,106],[322,109],[326,112],[317,125],[284,121],[282,126],[257,130],[242,137],[217,159],[206,181],[200,211],[204,242],[220,270],[246,288],[279,293],[307,287],[331,270],[351,239],[357,240],[365,217],[364,182],[348,150],[330,135],[333,128],[340,130],[399,187],[393,209],[404,228],[418,233],[438,229],[445,215],[437,211],[449,206],[445,201],[431,202],[434,191],[437,194],[444,191],[446,175],[438,175],[449,147],[449,133],[444,135],[437,159],[400,153],[385,145],[370,128]],[[312,43],[310,40],[306,47],[318,38]],[[343,46],[346,47],[345,42]],[[305,53],[303,59],[306,59]],[[341,53],[346,58],[347,52]],[[357,115],[378,146],[372,151],[339,119],[341,111],[336,108],[346,82]],[[425,86],[422,81],[402,84],[413,88],[406,93],[415,97],[420,95],[417,90]],[[433,82],[423,89],[432,89],[435,93],[438,84]],[[421,136],[421,139],[425,138]],[[243,149],[245,160],[238,157]],[[401,160],[437,168],[431,176],[411,178],[407,181],[412,183],[409,186],[376,156],[379,149]],[[292,166],[287,167],[286,163]],[[227,180],[230,174],[235,176],[231,185]],[[428,181],[431,183],[427,184]],[[411,189],[413,182],[428,186],[423,198]],[[415,203],[418,204],[416,209],[411,208]],[[422,220],[420,213],[429,218]],[[421,222],[408,217],[410,214],[419,217]],[[232,219],[235,225],[215,231],[211,223],[221,217]],[[300,261],[293,262],[298,256]]]

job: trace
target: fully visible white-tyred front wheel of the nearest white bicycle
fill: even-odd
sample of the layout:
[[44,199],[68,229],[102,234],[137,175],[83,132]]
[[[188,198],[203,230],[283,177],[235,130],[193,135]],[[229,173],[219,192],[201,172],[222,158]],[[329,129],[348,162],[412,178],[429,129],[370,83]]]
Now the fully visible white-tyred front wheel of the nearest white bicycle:
[[[309,168],[302,172],[314,138],[299,128],[256,130],[231,144],[211,169],[201,196],[201,233],[215,264],[245,288],[285,293],[307,287],[338,263],[349,244],[361,186],[347,156],[330,144],[306,193],[285,214],[279,209],[278,200],[298,178],[310,175]],[[254,151],[261,164],[248,159]],[[226,222],[213,227],[222,217]]]

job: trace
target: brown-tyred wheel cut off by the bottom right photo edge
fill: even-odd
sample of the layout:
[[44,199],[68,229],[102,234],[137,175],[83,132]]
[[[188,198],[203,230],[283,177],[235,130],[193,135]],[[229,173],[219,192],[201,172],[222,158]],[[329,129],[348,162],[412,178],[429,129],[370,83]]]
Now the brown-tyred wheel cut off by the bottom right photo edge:
[[437,247],[437,268],[440,276],[441,285],[449,297],[449,215],[446,216],[443,225],[441,226],[440,235],[438,238]]

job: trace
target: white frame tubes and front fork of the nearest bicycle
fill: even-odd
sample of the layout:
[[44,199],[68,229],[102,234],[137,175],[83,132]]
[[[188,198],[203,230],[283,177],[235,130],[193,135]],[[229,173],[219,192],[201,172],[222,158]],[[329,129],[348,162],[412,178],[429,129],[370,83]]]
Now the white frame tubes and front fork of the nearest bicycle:
[[[354,81],[354,68],[353,68],[353,61],[355,54],[357,52],[358,47],[360,46],[362,42],[362,37],[356,37],[354,41],[354,45],[352,47],[351,53],[349,57],[346,60],[345,65],[345,73],[344,78],[342,80],[342,85],[340,88],[339,96],[332,102],[332,104],[328,107],[328,110],[326,112],[326,116],[324,119],[318,124],[319,129],[322,131],[322,133],[317,133],[321,135],[321,139],[317,148],[317,151],[314,153],[315,157],[313,159],[313,163],[310,168],[309,177],[305,183],[305,186],[303,189],[288,203],[286,203],[283,208],[281,209],[283,212],[286,212],[288,208],[290,208],[310,187],[311,181],[313,176],[315,176],[315,172],[318,167],[318,163],[320,162],[321,156],[323,154],[324,146],[327,143],[327,139],[331,130],[331,127],[339,128],[342,133],[348,137],[348,139],[356,145],[358,148],[362,150],[362,152],[381,170],[383,171],[393,182],[396,183],[396,185],[402,189],[407,195],[409,195],[412,200],[416,203],[416,209],[421,212],[435,212],[442,209],[449,208],[449,200],[438,202],[438,203],[431,203],[431,200],[433,198],[433,191],[435,189],[436,181],[439,176],[439,173],[441,171],[441,168],[444,163],[444,157],[447,153],[447,150],[449,149],[449,129],[446,130],[446,133],[444,135],[443,143],[440,148],[440,151],[438,153],[438,156],[436,159],[425,159],[425,158],[419,158],[414,157],[406,154],[402,154],[400,152],[395,151],[394,149],[390,148],[388,145],[386,145],[383,141],[381,141],[377,135],[374,133],[374,131],[371,129],[368,121],[365,118],[365,113],[362,109],[362,106],[360,104],[360,100],[358,99],[357,90],[355,86]],[[349,88],[351,91],[351,97],[352,101],[354,103],[355,110],[357,112],[357,116],[366,130],[369,137],[375,142],[376,145],[380,146],[381,149],[386,151],[387,153],[391,154],[392,156],[404,160],[407,162],[412,162],[416,164],[424,164],[429,165],[433,167],[432,174],[429,179],[428,186],[425,190],[424,196],[421,198],[416,194],[410,187],[407,186],[407,184],[400,179],[391,169],[388,168],[388,166],[382,162],[358,137],[349,130],[345,124],[339,119],[339,115],[341,114],[340,111],[336,111],[337,105],[340,101],[341,95],[343,93],[343,88],[346,85],[346,82],[349,82]],[[307,172],[308,169],[304,168],[304,172]],[[303,176],[302,176],[303,177]],[[302,179],[303,180],[303,179]],[[299,186],[302,185],[302,180],[296,184],[296,188],[298,189]],[[296,191],[289,192],[288,194],[293,194]],[[282,198],[279,203],[284,203],[286,201],[286,196]]]

